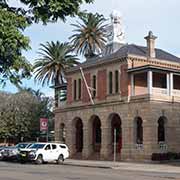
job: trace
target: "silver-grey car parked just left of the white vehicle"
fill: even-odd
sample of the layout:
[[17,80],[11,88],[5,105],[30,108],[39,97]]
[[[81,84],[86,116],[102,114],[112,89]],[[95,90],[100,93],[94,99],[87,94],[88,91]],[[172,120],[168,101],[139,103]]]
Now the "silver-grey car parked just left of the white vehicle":
[[5,147],[2,151],[2,159],[17,160],[20,150],[29,147],[31,144],[32,143],[18,143],[15,146]]

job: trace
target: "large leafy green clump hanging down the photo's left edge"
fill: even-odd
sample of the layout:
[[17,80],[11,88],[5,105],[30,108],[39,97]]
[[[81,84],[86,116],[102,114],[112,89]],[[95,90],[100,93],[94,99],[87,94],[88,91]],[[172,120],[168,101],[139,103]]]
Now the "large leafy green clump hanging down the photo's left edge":
[[28,26],[23,16],[0,9],[0,80],[9,79],[19,83],[30,76],[31,65],[22,56],[22,50],[28,50],[29,39],[22,34]]

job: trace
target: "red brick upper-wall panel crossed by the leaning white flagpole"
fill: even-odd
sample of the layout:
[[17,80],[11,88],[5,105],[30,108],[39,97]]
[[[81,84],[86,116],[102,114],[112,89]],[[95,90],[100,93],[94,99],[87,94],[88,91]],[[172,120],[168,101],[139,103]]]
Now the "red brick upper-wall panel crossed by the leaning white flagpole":
[[[90,73],[85,73],[84,76],[86,78],[86,82],[87,82],[88,86],[90,86],[90,84],[91,84]],[[82,102],[89,102],[89,101],[90,101],[90,98],[88,95],[88,91],[87,91],[87,88],[86,88],[85,83],[83,81],[83,83],[82,83]]]

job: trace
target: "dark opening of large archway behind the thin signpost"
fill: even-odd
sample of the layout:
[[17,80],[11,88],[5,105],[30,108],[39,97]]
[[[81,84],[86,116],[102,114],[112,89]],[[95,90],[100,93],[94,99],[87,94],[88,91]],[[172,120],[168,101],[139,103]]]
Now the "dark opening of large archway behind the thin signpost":
[[111,120],[112,153],[114,152],[114,143],[115,142],[116,142],[116,152],[121,153],[121,148],[122,148],[121,118],[118,114],[113,113],[110,115],[110,120]]

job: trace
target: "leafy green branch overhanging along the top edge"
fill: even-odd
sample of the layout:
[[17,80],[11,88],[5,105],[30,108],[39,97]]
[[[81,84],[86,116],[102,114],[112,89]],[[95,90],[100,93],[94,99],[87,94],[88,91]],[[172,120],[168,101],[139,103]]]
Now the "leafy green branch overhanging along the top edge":
[[67,16],[79,15],[80,5],[94,0],[19,0],[23,7],[12,7],[7,0],[0,1],[0,7],[16,12],[27,18],[28,22],[66,20]]

